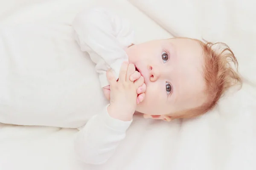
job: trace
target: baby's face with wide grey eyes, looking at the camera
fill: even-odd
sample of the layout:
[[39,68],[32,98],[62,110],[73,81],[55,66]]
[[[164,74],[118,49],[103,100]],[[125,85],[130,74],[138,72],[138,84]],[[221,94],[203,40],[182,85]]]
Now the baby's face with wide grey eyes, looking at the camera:
[[205,101],[203,51],[196,40],[153,40],[133,45],[126,52],[147,86],[145,99],[136,111],[175,116]]

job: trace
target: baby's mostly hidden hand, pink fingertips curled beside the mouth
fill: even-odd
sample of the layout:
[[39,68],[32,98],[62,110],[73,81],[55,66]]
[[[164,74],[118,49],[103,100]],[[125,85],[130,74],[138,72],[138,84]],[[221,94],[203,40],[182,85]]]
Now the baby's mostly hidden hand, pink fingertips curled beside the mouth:
[[[144,83],[144,78],[140,75],[140,72],[134,71],[134,73],[130,76],[130,80],[135,81],[136,84],[139,86],[137,88],[137,104],[139,104],[145,99],[146,85]],[[106,99],[110,100],[110,85],[105,86],[103,88],[103,92]]]

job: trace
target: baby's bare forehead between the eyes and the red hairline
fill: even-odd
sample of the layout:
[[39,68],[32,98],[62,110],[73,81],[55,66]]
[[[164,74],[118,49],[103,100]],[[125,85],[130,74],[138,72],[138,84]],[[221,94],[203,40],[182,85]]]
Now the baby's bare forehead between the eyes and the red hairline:
[[[202,94],[205,89],[203,76],[203,48],[197,40],[189,38],[170,39],[176,50],[175,74],[179,86],[179,96],[184,96],[183,102]],[[191,102],[192,104],[192,102]]]

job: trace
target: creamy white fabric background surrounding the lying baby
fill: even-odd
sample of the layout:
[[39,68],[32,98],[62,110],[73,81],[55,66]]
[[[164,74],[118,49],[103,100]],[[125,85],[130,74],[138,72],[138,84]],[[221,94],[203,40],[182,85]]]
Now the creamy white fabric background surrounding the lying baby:
[[[228,3],[229,1],[225,1],[227,3],[214,1],[214,3],[205,4],[205,1],[201,0],[186,2],[130,0],[130,2],[137,8],[126,0],[110,0],[108,2],[99,0],[23,0],[22,3],[21,1],[1,1],[0,9],[4,10],[0,13],[0,24],[7,26],[46,20],[58,20],[62,24],[68,24],[72,21],[76,11],[83,6],[105,3],[120,15],[131,19],[137,34],[137,42],[169,38],[171,37],[170,33],[176,33],[179,36],[198,36],[198,34],[205,33],[205,39],[227,40],[224,42],[230,44],[237,53],[243,75],[250,77],[251,81],[255,80],[253,79],[255,78],[253,65],[256,54],[254,49],[254,31],[256,29],[253,21],[255,15],[250,13],[253,12],[250,10],[252,4],[239,3],[239,1],[232,1],[233,5]],[[2,6],[6,3],[10,10],[7,10],[8,6],[6,8]],[[179,8],[181,4],[187,7]],[[202,16],[198,17],[200,15],[195,12],[202,11],[204,4],[209,6],[204,10],[220,12],[221,15],[219,14],[214,21],[217,22],[219,18],[232,17],[233,24],[234,22],[240,23],[235,24],[237,27],[234,27],[234,25],[228,25],[227,20],[223,19],[220,21],[222,24],[226,24],[225,27],[218,27],[218,24],[212,24],[209,22],[211,20],[207,20],[209,25],[203,26],[214,26],[213,28],[209,27],[212,28],[210,29],[211,35],[214,36],[207,35],[206,33],[209,31],[204,30],[206,27],[201,27],[200,21],[202,20],[200,18]],[[220,8],[216,8],[220,4],[222,11]],[[236,6],[236,10],[233,9],[234,6]],[[238,7],[240,10],[237,10]],[[211,8],[212,10],[210,10]],[[179,9],[184,9],[182,15],[177,13],[180,11]],[[232,13],[227,14],[228,10]],[[190,13],[186,14],[186,11]],[[245,14],[246,12],[249,13]],[[192,28],[192,26],[197,27]],[[203,29],[202,32],[197,31],[198,27]],[[244,29],[246,31],[243,31]],[[235,38],[230,30],[235,32]],[[193,32],[197,34],[192,34]],[[246,43],[247,40],[250,40],[251,43]],[[179,120],[159,122],[135,117],[133,125],[128,130],[126,140],[122,142],[108,163],[100,166],[85,165],[76,161],[73,153],[73,135],[76,130],[0,125],[0,169],[254,170],[256,169],[254,161],[256,157],[255,103],[255,88],[244,83],[241,91],[221,99],[220,105],[215,111],[197,119],[183,122]]]

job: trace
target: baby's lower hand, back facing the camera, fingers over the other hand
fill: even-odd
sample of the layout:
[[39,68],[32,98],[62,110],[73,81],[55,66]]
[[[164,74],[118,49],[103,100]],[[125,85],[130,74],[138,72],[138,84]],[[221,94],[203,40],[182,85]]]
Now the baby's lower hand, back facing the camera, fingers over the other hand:
[[108,114],[115,119],[130,121],[135,112],[137,105],[136,91],[142,80],[138,79],[138,82],[130,80],[130,76],[134,73],[134,71],[134,64],[124,62],[120,69],[118,82],[116,82],[116,79],[111,71],[107,72],[111,89]]

